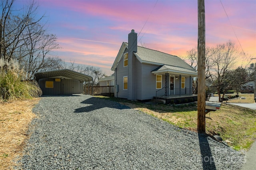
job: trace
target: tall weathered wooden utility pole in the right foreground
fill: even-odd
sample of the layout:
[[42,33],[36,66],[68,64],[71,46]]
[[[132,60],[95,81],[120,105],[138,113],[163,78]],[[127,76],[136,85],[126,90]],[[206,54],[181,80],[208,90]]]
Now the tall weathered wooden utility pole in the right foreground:
[[204,0],[198,0],[198,96],[197,130],[205,133],[205,10]]

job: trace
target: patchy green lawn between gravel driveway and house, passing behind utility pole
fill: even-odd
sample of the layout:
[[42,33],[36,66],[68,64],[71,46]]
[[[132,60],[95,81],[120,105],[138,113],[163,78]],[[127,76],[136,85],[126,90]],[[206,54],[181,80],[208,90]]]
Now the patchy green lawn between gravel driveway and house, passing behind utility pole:
[[[254,94],[241,94],[246,100],[237,102],[254,102]],[[141,102],[132,102],[120,98],[94,96],[113,100],[158,117],[180,128],[197,131],[197,107],[174,107],[171,105],[149,105]],[[228,101],[229,102],[229,101]],[[232,100],[236,102],[236,100]],[[256,139],[256,110],[240,106],[231,106],[222,103],[220,110],[206,114],[206,133],[210,136],[219,135],[228,145],[236,150],[248,150]]]

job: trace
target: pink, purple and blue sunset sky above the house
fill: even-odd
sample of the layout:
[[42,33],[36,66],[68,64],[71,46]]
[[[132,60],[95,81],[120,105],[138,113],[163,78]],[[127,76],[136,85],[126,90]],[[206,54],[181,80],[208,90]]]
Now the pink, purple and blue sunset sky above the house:
[[[131,29],[138,33],[139,46],[181,58],[197,47],[197,0],[37,2],[37,14],[45,14],[48,30],[61,47],[54,54],[66,62],[100,67],[107,75]],[[256,58],[256,0],[205,0],[205,14],[206,46],[231,40]]]

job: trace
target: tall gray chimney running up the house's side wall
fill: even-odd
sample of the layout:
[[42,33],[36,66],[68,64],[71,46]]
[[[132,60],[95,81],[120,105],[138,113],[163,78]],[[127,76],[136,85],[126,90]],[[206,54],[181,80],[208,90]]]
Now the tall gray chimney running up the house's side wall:
[[136,100],[136,56],[137,33],[134,29],[128,34],[128,100]]

